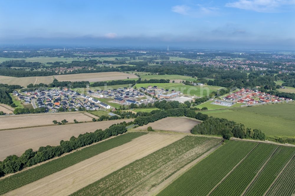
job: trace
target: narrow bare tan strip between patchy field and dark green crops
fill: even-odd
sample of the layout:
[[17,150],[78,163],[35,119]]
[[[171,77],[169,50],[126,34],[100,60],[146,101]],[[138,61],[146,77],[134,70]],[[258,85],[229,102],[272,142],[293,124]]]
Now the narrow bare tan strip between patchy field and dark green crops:
[[193,160],[189,164],[187,164],[184,167],[182,167],[180,170],[178,170],[177,172],[175,172],[173,175],[171,175],[170,177],[168,177],[167,179],[165,179],[163,182],[161,182],[159,185],[157,185],[157,187],[154,190],[152,190],[151,192],[149,192],[148,195],[158,195],[159,192],[161,192],[162,190],[164,190],[172,182],[174,182],[179,177],[181,177],[181,175],[183,175],[185,172],[187,172],[188,170],[190,170],[192,167],[194,167],[201,160],[203,160],[206,157],[208,157],[210,154],[212,154],[212,152],[214,152],[215,150],[217,150],[219,147],[221,147],[223,142],[224,142],[224,140],[222,139],[222,141],[219,142],[216,146],[212,147],[210,150],[208,150],[207,152],[205,152],[204,154],[202,154],[201,156],[199,156],[198,158],[196,158],[195,160]]

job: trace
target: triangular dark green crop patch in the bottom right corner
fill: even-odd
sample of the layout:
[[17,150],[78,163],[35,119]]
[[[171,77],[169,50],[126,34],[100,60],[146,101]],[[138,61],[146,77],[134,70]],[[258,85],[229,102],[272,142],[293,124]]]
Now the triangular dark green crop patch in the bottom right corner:
[[267,192],[267,196],[295,194],[295,157],[278,177],[271,189]]

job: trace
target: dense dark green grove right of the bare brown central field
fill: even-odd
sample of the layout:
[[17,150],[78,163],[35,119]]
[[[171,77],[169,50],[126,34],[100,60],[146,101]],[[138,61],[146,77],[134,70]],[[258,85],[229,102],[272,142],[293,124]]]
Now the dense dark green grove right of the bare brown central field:
[[265,134],[259,129],[245,128],[244,124],[229,121],[227,119],[220,119],[209,117],[202,123],[197,124],[191,129],[192,134],[207,134],[207,135],[222,135],[224,139],[230,139],[234,136],[237,138],[250,138],[265,140]]

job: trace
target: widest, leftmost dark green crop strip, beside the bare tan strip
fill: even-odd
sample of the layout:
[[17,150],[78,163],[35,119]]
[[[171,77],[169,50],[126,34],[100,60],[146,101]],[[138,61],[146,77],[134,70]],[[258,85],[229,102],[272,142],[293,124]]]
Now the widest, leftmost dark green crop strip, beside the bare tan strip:
[[159,196],[207,195],[257,144],[229,141],[172,182]]

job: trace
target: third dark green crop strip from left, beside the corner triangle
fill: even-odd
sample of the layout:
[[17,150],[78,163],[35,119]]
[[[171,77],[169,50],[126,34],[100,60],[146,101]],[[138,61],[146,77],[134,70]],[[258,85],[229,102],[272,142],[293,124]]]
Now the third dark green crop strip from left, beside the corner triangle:
[[245,195],[263,195],[268,187],[276,179],[278,173],[282,170],[284,165],[294,155],[294,147],[280,146],[273,157],[265,165],[253,184],[249,187]]

